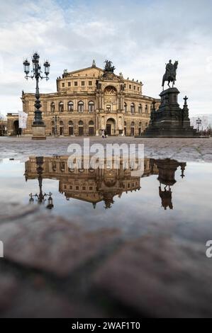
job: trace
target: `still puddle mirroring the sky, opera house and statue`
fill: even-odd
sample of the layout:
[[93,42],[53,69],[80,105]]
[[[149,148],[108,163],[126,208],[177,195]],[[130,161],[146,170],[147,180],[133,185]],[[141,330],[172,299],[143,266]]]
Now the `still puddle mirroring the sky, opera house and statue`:
[[52,208],[50,214],[87,230],[114,227],[137,236],[157,229],[193,240],[204,240],[211,231],[211,239],[211,164],[145,159],[144,165],[142,176],[131,176],[123,167],[71,170],[67,157],[4,159],[0,199],[26,205],[41,201],[42,209]]

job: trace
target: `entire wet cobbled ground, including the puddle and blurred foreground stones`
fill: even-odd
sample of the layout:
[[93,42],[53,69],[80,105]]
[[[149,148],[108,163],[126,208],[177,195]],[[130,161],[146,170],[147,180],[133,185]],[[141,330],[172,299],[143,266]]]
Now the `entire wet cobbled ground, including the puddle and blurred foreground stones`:
[[[211,317],[212,164],[203,162],[211,139],[158,142],[165,158],[146,157],[140,176],[123,166],[69,169],[67,139],[60,156],[51,154],[60,139],[39,154],[11,139],[16,155],[9,140],[0,162],[1,317]],[[171,149],[182,159],[168,158]]]

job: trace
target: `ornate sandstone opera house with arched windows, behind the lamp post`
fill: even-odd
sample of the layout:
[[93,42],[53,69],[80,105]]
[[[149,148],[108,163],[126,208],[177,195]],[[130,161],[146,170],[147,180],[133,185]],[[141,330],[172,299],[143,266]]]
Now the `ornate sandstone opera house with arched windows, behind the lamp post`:
[[[158,99],[144,96],[142,89],[142,82],[124,79],[108,67],[96,67],[95,62],[74,72],[65,70],[57,78],[56,93],[40,94],[46,135],[55,131],[67,136],[101,135],[102,130],[108,135],[140,135],[150,121],[152,102],[156,108],[159,105]],[[35,95],[23,93],[22,101],[23,111],[28,113],[23,135],[30,136]]]

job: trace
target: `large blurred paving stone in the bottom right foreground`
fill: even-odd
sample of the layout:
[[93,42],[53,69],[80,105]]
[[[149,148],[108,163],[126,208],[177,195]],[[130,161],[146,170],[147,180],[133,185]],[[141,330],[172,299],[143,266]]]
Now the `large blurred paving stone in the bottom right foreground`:
[[205,244],[142,237],[113,254],[94,284],[148,317],[211,317],[212,259]]

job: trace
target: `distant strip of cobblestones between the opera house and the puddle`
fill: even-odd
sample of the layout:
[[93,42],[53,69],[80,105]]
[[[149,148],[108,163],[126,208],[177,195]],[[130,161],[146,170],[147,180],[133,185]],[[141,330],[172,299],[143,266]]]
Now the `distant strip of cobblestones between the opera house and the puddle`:
[[[134,138],[134,137],[90,137],[90,143],[143,143],[145,157],[172,158],[181,162],[212,162],[212,138]],[[82,145],[83,137],[48,137],[46,141],[33,141],[30,138],[0,137],[0,159],[14,158],[26,160],[30,155],[67,155],[69,144]]]

